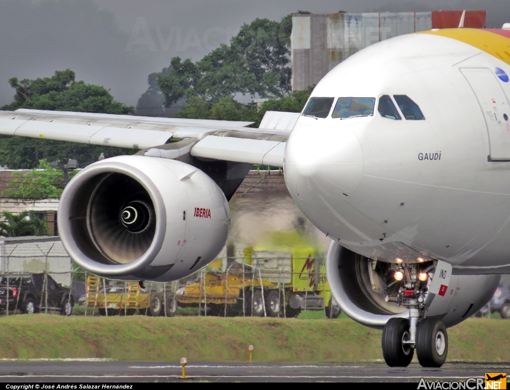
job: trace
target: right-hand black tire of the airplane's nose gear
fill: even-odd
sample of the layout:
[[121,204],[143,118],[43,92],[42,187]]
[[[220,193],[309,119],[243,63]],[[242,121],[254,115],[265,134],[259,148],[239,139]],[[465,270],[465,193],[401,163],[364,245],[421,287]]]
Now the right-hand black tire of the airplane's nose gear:
[[448,355],[448,333],[443,321],[425,318],[416,329],[416,354],[422,367],[441,367]]

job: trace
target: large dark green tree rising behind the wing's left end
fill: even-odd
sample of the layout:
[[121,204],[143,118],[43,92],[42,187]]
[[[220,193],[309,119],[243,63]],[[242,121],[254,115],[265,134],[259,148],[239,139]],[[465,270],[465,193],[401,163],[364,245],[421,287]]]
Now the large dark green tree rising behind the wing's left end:
[[[134,111],[133,107],[114,100],[104,87],[75,81],[75,74],[70,69],[56,71],[54,76],[44,79],[18,81],[13,77],[9,83],[16,94],[13,102],[2,110],[31,108],[107,114],[131,114]],[[107,157],[133,152],[109,146],[0,136],[0,164],[14,169],[37,167],[42,159],[67,161],[72,158],[86,166],[97,161],[103,151]]]

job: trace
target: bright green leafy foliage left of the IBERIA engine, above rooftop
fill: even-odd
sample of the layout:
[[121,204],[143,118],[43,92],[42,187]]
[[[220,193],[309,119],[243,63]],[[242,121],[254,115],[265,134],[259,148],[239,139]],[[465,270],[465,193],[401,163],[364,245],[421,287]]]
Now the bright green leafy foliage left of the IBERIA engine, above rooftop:
[[[69,178],[77,171],[70,171]],[[22,199],[60,198],[64,189],[64,172],[53,168],[46,160],[39,161],[39,167],[22,174],[13,172],[18,178],[10,181],[10,187],[2,191],[3,196]]]

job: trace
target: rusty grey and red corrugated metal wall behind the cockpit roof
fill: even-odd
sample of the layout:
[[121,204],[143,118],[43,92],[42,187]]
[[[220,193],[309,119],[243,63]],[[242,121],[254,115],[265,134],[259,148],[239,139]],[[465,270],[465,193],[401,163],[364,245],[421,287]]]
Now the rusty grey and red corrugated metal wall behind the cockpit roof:
[[[462,11],[295,14],[292,89],[317,84],[341,61],[375,42],[432,28],[458,26]],[[469,25],[466,22],[469,21]],[[467,11],[465,27],[483,27],[485,11]]]

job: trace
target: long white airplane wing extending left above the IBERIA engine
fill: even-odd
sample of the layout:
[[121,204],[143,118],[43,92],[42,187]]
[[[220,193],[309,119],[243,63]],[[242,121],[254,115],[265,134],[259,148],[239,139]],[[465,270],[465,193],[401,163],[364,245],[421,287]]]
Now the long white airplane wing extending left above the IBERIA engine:
[[19,109],[0,111],[0,134],[144,149],[143,154],[160,157],[172,149],[165,144],[189,139],[180,145],[197,158],[282,167],[299,115],[268,111],[261,127],[251,128],[246,126],[252,122],[242,121]]

